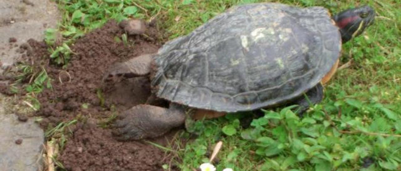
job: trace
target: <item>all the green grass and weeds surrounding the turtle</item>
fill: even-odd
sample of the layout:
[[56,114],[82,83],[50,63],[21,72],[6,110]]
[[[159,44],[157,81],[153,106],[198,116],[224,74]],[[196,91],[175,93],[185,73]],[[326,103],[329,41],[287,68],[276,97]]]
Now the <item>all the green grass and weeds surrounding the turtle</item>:
[[[261,0],[58,0],[63,35],[52,58],[67,66],[68,45],[109,18],[157,18],[168,39],[188,34],[235,4]],[[325,6],[333,13],[369,4],[378,17],[358,38],[343,45],[342,64],[326,86],[324,101],[303,118],[288,108],[265,111],[251,127],[239,126],[241,114],[197,121],[190,131],[198,134],[185,147],[174,150],[183,170],[207,162],[217,141],[223,141],[218,170],[400,170],[401,166],[401,10],[397,0],[280,0],[296,6]],[[64,47],[64,48],[60,48]],[[182,137],[189,137],[183,133]],[[363,159],[373,164],[361,168]],[[164,165],[164,167],[166,167]],[[168,167],[166,167],[168,168]]]

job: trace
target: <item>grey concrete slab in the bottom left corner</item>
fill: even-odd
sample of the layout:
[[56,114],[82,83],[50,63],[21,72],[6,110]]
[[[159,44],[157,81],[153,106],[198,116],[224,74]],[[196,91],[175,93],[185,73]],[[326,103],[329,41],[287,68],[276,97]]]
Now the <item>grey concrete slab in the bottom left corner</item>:
[[41,171],[44,133],[34,123],[16,115],[0,115],[0,168],[4,171]]

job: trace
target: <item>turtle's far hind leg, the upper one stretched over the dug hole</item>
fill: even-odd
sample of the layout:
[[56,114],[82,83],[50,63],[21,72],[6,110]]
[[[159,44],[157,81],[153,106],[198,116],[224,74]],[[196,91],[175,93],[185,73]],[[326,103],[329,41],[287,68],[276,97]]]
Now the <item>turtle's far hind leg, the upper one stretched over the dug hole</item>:
[[108,68],[105,76],[103,77],[103,81],[114,76],[133,78],[148,75],[152,68],[151,66],[154,55],[155,54],[144,54],[125,62],[114,63]]

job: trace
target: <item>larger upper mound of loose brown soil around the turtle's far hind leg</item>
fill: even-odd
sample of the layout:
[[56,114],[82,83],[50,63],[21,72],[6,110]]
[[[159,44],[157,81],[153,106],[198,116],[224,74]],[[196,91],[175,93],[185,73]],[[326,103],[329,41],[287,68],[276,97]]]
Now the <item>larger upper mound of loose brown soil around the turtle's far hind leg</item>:
[[[117,109],[121,111],[144,103],[150,94],[148,78],[123,80],[113,87],[104,87],[102,78],[107,68],[117,60],[157,51],[160,44],[154,40],[158,40],[159,35],[155,28],[148,30],[150,38],[133,36],[128,39],[131,45],[124,46],[122,41],[116,41],[124,30],[115,21],[110,21],[71,46],[75,54],[71,56],[67,69],[48,65],[47,73],[54,81],[53,89],[45,89],[38,97],[41,102],[39,115],[47,117],[41,125],[72,119],[78,114],[108,117],[110,104],[118,105]],[[102,94],[102,89],[105,94]],[[84,104],[89,108],[83,109]]]

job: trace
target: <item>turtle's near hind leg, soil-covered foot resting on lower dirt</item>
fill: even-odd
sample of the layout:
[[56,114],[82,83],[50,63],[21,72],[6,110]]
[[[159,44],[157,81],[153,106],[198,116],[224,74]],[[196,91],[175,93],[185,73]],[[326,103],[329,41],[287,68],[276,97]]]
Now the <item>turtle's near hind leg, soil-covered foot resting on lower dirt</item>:
[[137,105],[119,115],[113,127],[118,140],[139,140],[163,135],[184,124],[185,109],[171,104],[170,108],[153,105]]

